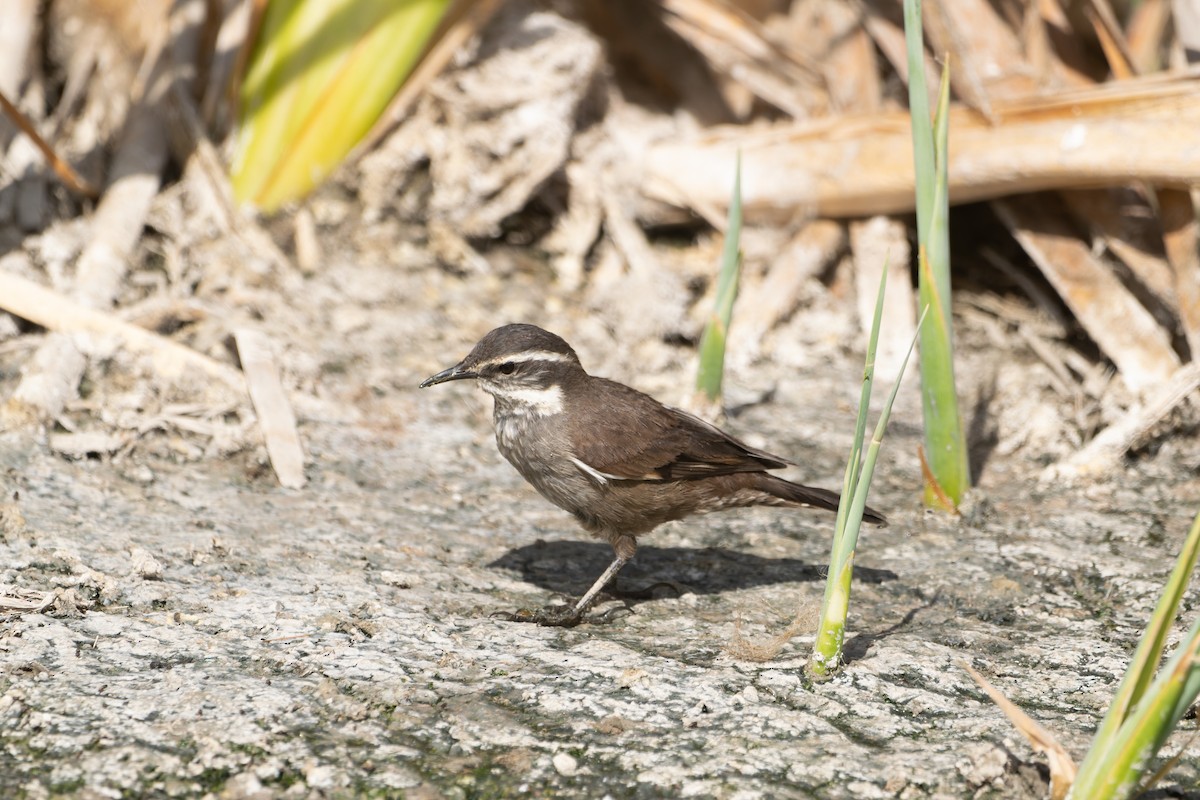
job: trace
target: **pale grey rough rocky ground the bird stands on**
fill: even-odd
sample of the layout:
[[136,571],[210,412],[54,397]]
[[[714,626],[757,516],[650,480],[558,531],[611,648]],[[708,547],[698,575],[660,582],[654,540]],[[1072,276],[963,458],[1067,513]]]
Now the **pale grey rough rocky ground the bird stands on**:
[[[1081,754],[1200,501],[1190,440],[1079,487],[1001,446],[966,518],[926,513],[910,386],[871,500],[892,524],[860,546],[830,682],[803,672],[811,622],[749,658],[815,616],[816,512],[660,529],[623,575],[655,597],[610,624],[500,621],[581,591],[610,552],[503,462],[485,396],[419,380],[514,319],[668,402],[690,350],[616,342],[523,272],[347,259],[288,291],[292,315],[264,327],[318,365],[293,396],[306,488],[277,488],[256,451],[173,458],[152,432],[160,446],[79,461],[0,437],[0,582],[53,599],[0,618],[4,796],[1040,798],[1043,759],[960,663]],[[728,427],[796,457],[797,480],[840,482],[848,330],[802,312],[772,357],[734,365],[734,399],[768,399]],[[968,386],[1000,369],[1001,433],[1032,420],[1019,377],[1036,365],[962,341]],[[1152,796],[1200,798],[1198,747]]]

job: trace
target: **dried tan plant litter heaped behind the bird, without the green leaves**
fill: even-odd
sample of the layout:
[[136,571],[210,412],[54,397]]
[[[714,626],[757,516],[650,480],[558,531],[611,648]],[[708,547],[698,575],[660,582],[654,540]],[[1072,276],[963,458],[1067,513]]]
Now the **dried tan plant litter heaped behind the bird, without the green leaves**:
[[[680,345],[694,342],[712,291],[706,248],[737,151],[748,225],[775,243],[748,252],[731,369],[760,359],[799,366],[845,349],[859,287],[881,258],[898,278],[912,258],[899,110],[907,64],[892,0],[460,8],[338,174],[342,185],[268,230],[233,207],[223,128],[206,127],[229,119],[220,76],[235,74],[245,53],[245,10],[234,5],[62,2],[38,16],[38,4],[22,0],[0,12],[11,37],[0,59],[12,66],[0,71],[0,90],[103,187],[95,207],[82,205],[25,137],[0,132],[0,219],[19,222],[0,231],[11,254],[0,305],[13,314],[0,337],[22,342],[5,351],[13,368],[0,374],[7,421],[49,423],[49,446],[64,457],[120,461],[150,447],[191,458],[256,445],[233,366],[239,329],[286,343],[282,389],[308,390],[295,402],[336,391],[322,386],[322,365],[343,360],[292,347],[325,312],[289,305],[340,258],[440,264],[457,276],[448,281],[491,282],[504,295],[493,314],[565,307],[593,318],[590,336],[635,342],[644,368],[668,365],[686,355]],[[1007,233],[988,235],[1021,248],[1004,248],[1006,276],[1039,270],[1049,279],[1039,290],[1057,294],[1056,313],[1070,318],[1049,332],[971,317],[995,347],[1032,353],[1048,402],[1058,404],[1034,416],[1061,431],[1024,445],[1007,439],[1010,452],[1085,445],[1136,414],[1138,393],[1153,395],[1200,349],[1200,290],[1188,278],[1200,264],[1189,188],[1200,167],[1186,146],[1200,103],[1198,76],[1183,64],[1194,34],[1183,6],[1141,4],[1126,17],[1105,4],[1088,13],[986,0],[926,8],[926,67],[938,71],[944,54],[955,65],[953,199],[995,199]],[[740,124],[709,127],[732,120]],[[1157,145],[1128,146],[1134,139]],[[1046,207],[1054,213],[1033,212]],[[888,216],[838,219],[875,213]],[[1039,227],[1049,221],[1052,231]],[[35,284],[32,294],[10,290],[8,275]],[[547,305],[546,291],[566,300]],[[31,301],[18,308],[22,293]],[[428,290],[412,325],[461,325],[470,314],[452,307],[452,294],[449,284]],[[911,325],[901,308],[911,300],[892,302],[898,330]],[[374,319],[344,307],[334,318],[340,335]],[[36,326],[49,333],[34,338]],[[120,374],[130,361],[113,355],[112,336],[121,350],[154,354],[154,366]],[[1079,347],[1085,336],[1098,351]],[[1132,393],[1093,391],[1109,361]],[[190,379],[173,377],[180,371]],[[200,373],[228,387],[209,393]],[[373,386],[401,383],[379,378],[382,360],[370,373]],[[146,398],[137,411],[131,385]],[[191,404],[199,410],[179,413]]]

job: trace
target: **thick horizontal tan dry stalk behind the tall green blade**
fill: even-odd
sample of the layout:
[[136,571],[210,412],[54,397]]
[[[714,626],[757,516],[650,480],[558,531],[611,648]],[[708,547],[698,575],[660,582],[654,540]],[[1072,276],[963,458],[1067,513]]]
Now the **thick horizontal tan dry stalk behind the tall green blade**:
[[[1037,98],[992,102],[1000,120],[950,112],[950,200],[1146,181],[1200,184],[1200,71]],[[718,127],[652,146],[642,192],[684,207],[722,210],[742,151],[748,217],[791,219],[912,211],[907,113],[845,115],[762,131]],[[1130,148],[1129,142],[1156,142]]]

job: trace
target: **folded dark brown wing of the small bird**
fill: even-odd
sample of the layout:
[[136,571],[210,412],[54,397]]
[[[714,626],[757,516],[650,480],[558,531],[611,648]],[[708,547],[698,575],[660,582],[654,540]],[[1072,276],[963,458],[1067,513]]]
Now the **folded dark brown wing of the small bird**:
[[570,429],[576,458],[604,479],[679,481],[782,469],[792,462],[750,447],[724,431],[634,389],[606,381],[612,399],[586,428]]

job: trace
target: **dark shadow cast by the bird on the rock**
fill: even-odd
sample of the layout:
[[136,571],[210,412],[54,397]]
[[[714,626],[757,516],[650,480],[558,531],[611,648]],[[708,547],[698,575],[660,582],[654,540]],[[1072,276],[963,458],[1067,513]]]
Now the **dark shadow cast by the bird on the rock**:
[[[510,570],[547,591],[580,595],[612,561],[604,542],[536,541],[511,549],[490,567]],[[619,576],[623,590],[670,583],[700,595],[719,594],[775,583],[824,581],[827,567],[791,558],[762,558],[724,547],[641,546]],[[866,583],[894,581],[890,570],[856,566],[854,579]]]

